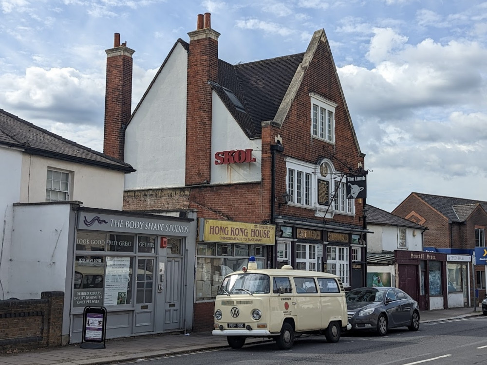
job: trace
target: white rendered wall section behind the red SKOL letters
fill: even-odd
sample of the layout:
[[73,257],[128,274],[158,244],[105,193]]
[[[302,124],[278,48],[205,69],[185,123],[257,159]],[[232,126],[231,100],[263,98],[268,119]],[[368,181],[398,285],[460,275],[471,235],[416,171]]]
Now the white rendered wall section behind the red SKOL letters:
[[[225,104],[213,91],[211,124],[211,183],[245,183],[261,181],[262,140],[249,140],[233,119]],[[256,162],[240,164],[215,164],[215,153],[252,149]]]

